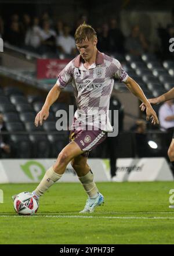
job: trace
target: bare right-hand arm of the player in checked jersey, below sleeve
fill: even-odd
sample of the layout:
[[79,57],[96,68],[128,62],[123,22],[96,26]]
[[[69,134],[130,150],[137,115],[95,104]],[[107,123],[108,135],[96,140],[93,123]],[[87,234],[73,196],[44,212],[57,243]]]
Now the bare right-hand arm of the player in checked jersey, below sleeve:
[[149,120],[152,117],[152,123],[159,123],[157,114],[155,113],[154,109],[151,107],[150,102],[148,102],[146,96],[144,95],[142,88],[133,80],[131,77],[128,76],[126,81],[124,81],[126,86],[128,87],[129,91],[133,93],[140,101],[143,102],[144,106],[146,106],[146,120]]

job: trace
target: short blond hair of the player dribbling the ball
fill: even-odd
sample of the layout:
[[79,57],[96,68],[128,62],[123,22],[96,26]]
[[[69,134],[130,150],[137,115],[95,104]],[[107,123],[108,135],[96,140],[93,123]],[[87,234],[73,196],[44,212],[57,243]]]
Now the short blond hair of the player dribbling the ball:
[[94,40],[97,38],[97,33],[93,27],[84,22],[75,31],[74,38],[76,43],[81,43],[83,40],[86,40],[86,38],[88,40]]

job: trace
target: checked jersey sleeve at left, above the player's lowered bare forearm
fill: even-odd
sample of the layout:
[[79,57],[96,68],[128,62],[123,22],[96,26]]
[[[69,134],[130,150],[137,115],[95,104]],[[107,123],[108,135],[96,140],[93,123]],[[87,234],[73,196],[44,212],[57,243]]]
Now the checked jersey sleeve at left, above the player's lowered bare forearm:
[[59,86],[61,89],[65,88],[68,83],[71,82],[73,79],[73,61],[70,61],[66,67],[59,73],[58,79],[57,79],[57,86]]

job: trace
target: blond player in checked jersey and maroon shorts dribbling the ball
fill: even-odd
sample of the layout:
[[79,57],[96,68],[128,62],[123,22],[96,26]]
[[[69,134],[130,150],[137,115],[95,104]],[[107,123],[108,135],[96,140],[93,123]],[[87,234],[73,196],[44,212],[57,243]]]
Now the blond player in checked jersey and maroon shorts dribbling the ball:
[[147,120],[151,118],[155,125],[158,118],[142,89],[122,69],[119,61],[97,50],[97,35],[91,26],[84,23],[77,28],[75,43],[79,55],[60,72],[55,86],[49,91],[44,106],[35,118],[35,126],[42,125],[43,120],[48,118],[49,108],[59,97],[60,91],[71,83],[78,106],[74,115],[74,130],[70,133],[71,142],[63,148],[56,163],[46,171],[41,183],[32,193],[37,198],[41,197],[61,178],[66,166],[71,162],[88,194],[86,205],[81,211],[85,213],[93,212],[97,205],[104,202],[103,195],[94,182],[87,158],[88,152],[105,140],[107,132],[113,131],[108,119],[108,108],[114,78],[118,77],[144,103]]

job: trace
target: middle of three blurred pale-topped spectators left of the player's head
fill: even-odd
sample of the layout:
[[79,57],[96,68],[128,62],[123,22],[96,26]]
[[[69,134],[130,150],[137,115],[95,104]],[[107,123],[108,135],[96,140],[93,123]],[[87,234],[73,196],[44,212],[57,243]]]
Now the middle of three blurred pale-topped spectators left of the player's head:
[[41,54],[45,52],[56,51],[56,32],[50,29],[50,24],[47,20],[44,21],[43,27],[40,31],[41,47],[39,51]]

